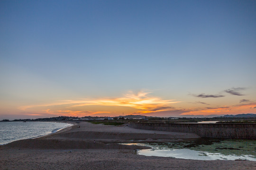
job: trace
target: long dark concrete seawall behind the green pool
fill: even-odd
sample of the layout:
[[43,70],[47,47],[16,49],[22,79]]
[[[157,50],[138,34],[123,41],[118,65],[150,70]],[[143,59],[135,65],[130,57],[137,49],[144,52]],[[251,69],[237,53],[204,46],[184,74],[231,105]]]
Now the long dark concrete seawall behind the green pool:
[[256,124],[129,123],[128,127],[194,133],[210,138],[256,139]]

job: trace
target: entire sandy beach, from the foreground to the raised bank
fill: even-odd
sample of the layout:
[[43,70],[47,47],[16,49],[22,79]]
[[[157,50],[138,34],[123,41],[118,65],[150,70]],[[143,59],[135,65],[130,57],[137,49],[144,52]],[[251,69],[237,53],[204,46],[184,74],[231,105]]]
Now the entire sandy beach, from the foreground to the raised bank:
[[[195,134],[81,122],[55,134],[0,147],[1,170],[255,170],[255,161],[199,161],[144,156],[119,142],[183,141]],[[94,143],[95,140],[95,143]]]

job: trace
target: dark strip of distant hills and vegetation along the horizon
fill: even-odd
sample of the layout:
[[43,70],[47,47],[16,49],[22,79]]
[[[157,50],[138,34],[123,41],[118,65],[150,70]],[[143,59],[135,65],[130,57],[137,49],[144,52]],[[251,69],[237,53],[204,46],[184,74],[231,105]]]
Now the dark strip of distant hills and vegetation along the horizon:
[[[233,117],[232,117],[233,116]],[[4,119],[2,122],[9,122],[10,120]],[[225,115],[214,118],[163,118],[163,117],[148,117],[143,115],[126,115],[117,117],[91,117],[85,116],[70,117],[59,116],[53,118],[38,118],[38,119],[15,119],[11,121],[92,121],[95,124],[104,122],[105,124],[121,125],[129,122],[145,122],[145,123],[196,123],[200,121],[219,121],[218,123],[256,123],[256,114],[240,114],[240,115]]]

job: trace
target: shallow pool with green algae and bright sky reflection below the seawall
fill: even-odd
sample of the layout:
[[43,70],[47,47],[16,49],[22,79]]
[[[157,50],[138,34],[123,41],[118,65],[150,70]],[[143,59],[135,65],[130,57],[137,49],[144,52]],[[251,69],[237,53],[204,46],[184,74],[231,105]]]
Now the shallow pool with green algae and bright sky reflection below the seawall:
[[152,149],[138,150],[146,156],[163,156],[194,160],[256,161],[256,140],[200,139],[180,143],[140,143]]

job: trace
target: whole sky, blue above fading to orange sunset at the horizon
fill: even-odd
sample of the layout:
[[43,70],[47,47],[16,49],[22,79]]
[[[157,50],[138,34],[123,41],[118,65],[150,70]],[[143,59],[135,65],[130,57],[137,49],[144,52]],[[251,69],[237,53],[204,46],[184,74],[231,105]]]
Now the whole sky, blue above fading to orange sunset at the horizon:
[[256,113],[255,0],[1,0],[0,119]]

